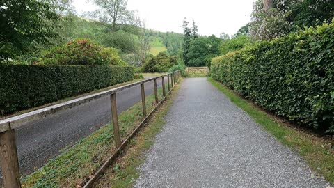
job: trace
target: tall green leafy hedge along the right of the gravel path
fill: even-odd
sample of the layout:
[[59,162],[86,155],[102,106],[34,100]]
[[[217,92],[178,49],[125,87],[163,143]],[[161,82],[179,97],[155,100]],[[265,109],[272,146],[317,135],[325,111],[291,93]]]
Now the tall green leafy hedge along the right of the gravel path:
[[278,116],[334,132],[334,24],[219,56],[211,72]]

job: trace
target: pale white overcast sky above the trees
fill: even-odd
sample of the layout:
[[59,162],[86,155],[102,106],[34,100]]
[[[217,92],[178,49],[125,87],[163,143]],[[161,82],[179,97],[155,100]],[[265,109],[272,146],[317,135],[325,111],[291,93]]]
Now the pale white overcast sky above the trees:
[[[127,8],[137,10],[148,29],[182,33],[184,17],[195,20],[200,35],[219,36],[225,32],[236,33],[250,22],[255,0],[128,0]],[[86,0],[74,0],[74,8],[80,15],[97,7]]]

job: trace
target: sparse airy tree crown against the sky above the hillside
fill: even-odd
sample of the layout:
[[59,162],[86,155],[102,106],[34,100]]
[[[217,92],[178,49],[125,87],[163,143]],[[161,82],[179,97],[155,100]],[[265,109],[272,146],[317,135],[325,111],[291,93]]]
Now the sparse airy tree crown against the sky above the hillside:
[[117,24],[125,24],[133,19],[133,13],[127,10],[127,0],[93,0],[100,10],[93,12],[100,21],[111,23],[112,31],[117,31]]

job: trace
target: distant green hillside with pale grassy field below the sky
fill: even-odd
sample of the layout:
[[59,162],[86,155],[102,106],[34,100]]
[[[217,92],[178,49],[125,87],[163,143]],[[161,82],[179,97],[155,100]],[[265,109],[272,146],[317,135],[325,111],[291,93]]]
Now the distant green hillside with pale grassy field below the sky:
[[[58,31],[62,43],[74,38],[89,38],[104,47],[113,47],[120,51],[125,61],[135,62],[138,51],[141,28],[138,26],[118,25],[117,31],[112,31],[111,24],[83,19],[76,15],[65,17],[62,29]],[[173,32],[150,30],[150,54],[168,52],[176,55],[182,48],[183,35]]]

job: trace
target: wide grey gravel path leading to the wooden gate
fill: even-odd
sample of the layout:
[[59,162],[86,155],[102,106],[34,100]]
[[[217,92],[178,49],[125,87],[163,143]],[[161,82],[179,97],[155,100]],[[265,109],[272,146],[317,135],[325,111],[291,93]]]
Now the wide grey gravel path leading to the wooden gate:
[[206,78],[185,79],[134,187],[326,187]]

